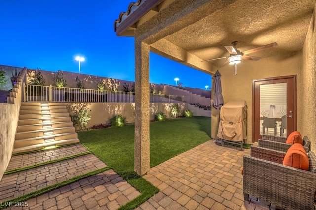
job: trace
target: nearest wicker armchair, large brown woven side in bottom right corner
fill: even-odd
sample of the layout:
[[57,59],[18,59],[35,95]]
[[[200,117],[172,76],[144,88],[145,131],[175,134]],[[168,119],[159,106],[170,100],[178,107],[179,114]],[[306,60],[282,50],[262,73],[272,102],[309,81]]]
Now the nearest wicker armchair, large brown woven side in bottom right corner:
[[309,171],[284,166],[285,152],[251,146],[243,157],[243,193],[288,210],[314,210],[316,156],[310,151]]

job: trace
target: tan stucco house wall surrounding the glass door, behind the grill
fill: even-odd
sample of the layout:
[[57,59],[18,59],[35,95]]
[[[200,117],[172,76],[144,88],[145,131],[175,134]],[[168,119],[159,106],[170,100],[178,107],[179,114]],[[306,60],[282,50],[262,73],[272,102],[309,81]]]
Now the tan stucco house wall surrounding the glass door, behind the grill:
[[[289,54],[286,57],[268,57],[259,61],[242,61],[237,64],[237,75],[234,76],[234,66],[226,65],[219,69],[221,73],[222,94],[224,104],[228,101],[246,101],[248,105],[247,115],[247,143],[252,142],[252,80],[264,79],[285,75],[298,75],[297,95],[302,92],[302,76],[301,76],[301,57],[302,53]],[[213,83],[214,84],[214,80]],[[302,106],[304,104],[297,103],[297,116],[302,115]],[[216,138],[218,131],[218,114],[219,111],[212,108],[212,137]],[[302,125],[298,124],[298,130],[302,129]]]

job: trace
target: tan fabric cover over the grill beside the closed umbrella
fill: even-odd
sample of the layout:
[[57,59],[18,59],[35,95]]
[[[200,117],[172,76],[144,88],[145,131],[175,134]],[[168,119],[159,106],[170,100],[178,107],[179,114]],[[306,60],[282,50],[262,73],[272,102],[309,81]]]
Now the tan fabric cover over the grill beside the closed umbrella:
[[222,106],[217,136],[233,141],[247,139],[247,103],[245,101],[227,102]]

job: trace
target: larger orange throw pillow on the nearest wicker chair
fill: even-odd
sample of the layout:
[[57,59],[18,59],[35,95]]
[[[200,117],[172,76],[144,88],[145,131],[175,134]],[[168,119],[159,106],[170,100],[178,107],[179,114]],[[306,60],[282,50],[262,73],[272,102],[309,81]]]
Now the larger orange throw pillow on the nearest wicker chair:
[[293,144],[286,152],[283,165],[308,171],[310,163],[304,147],[299,143]]

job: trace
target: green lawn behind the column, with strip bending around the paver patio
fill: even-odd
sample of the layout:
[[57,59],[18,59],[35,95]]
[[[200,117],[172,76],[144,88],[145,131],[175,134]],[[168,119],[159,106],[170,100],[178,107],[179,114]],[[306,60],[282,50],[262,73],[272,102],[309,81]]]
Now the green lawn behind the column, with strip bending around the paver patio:
[[[151,167],[210,140],[210,132],[210,117],[151,122]],[[79,132],[78,138],[97,157],[141,192],[138,198],[122,209],[133,209],[158,192],[156,187],[134,172],[133,125]]]

